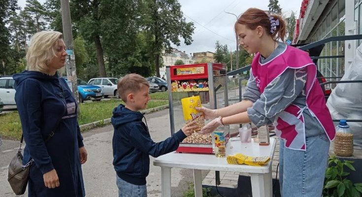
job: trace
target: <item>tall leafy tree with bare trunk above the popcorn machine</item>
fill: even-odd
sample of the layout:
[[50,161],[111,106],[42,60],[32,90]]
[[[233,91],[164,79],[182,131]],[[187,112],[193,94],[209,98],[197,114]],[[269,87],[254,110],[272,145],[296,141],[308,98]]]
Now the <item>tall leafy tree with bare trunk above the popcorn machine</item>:
[[177,0],[145,0],[144,30],[155,40],[152,55],[155,60],[156,75],[160,77],[160,59],[163,49],[171,47],[171,42],[180,45],[180,37],[186,45],[193,41],[194,24],[187,23]]

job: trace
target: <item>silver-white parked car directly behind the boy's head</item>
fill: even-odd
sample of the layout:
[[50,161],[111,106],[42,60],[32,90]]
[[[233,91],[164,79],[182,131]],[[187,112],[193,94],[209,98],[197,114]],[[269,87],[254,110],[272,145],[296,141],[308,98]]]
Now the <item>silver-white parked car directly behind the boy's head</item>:
[[99,86],[104,93],[104,98],[107,98],[108,96],[115,96],[119,99],[117,92],[118,80],[119,79],[117,78],[111,77],[93,78],[88,81],[88,84]]

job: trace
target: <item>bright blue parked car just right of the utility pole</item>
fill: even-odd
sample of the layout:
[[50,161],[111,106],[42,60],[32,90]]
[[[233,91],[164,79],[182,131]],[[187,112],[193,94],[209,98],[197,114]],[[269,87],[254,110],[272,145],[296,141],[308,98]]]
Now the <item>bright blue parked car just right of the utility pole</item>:
[[[67,77],[63,78],[67,81]],[[91,100],[92,98],[96,100],[103,98],[104,93],[99,86],[87,84],[87,82],[79,78],[77,78],[77,83],[79,102],[82,103],[84,100]]]

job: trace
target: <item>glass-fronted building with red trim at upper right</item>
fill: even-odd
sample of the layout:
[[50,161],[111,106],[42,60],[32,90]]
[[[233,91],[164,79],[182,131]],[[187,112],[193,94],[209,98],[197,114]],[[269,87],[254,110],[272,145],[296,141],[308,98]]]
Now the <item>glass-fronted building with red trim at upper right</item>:
[[[312,43],[330,36],[362,33],[362,0],[302,0],[296,21],[294,43]],[[343,76],[353,61],[361,41],[332,41],[325,44],[320,56],[340,56],[318,60],[325,77]]]

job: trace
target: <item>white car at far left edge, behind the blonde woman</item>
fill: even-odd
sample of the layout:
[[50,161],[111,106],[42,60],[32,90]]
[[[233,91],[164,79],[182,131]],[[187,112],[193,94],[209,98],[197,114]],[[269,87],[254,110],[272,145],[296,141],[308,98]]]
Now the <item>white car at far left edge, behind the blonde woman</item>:
[[15,80],[12,76],[0,76],[0,99],[3,105],[16,105]]

